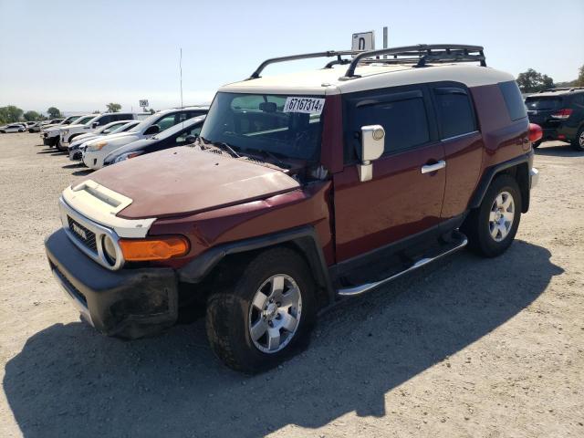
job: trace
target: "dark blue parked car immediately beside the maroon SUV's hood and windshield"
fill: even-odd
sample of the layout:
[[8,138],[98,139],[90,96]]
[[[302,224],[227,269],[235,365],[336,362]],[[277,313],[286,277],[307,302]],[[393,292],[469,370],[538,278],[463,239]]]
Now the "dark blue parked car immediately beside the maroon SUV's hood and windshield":
[[195,117],[147,139],[132,141],[130,144],[110,152],[103,160],[103,165],[109,166],[110,164],[123,162],[147,153],[192,144],[199,137],[201,128],[203,128],[204,118],[205,116]]

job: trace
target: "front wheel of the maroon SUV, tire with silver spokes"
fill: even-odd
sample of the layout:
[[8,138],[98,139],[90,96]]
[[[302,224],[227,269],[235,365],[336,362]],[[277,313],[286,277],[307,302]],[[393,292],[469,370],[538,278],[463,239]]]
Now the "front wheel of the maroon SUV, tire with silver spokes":
[[[267,249],[232,267],[235,279],[207,299],[207,338],[229,368],[250,374],[269,370],[308,344],[316,319],[313,276],[302,256],[285,247]],[[284,292],[278,294],[278,289]],[[296,308],[287,308],[285,301]]]

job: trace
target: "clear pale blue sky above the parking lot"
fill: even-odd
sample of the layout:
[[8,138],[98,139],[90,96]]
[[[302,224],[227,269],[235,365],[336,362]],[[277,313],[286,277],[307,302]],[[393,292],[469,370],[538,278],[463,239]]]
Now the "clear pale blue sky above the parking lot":
[[514,75],[535,68],[562,81],[584,64],[582,23],[584,0],[0,0],[0,106],[176,106],[179,47],[184,102],[209,101],[266,57],[349,48],[353,32],[371,29],[381,47],[382,26],[390,46],[482,45],[489,66]]

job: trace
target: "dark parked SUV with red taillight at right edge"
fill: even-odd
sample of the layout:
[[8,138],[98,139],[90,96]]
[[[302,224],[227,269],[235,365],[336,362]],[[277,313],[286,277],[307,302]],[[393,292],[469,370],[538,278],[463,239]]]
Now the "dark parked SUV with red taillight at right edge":
[[526,99],[529,121],[543,129],[542,141],[569,141],[584,151],[584,87],[547,89]]

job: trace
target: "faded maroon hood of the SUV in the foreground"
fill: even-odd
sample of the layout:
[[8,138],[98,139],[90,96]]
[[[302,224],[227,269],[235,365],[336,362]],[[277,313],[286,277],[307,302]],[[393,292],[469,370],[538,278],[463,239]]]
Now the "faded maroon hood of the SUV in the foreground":
[[120,162],[90,178],[132,200],[118,214],[127,219],[201,213],[300,186],[282,171],[188,146]]

